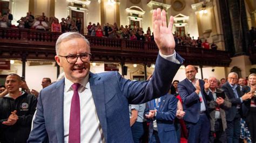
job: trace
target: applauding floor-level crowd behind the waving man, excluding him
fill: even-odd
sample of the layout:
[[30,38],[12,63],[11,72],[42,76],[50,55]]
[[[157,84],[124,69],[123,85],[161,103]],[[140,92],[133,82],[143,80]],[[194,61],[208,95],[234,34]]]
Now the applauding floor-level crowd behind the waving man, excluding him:
[[[163,97],[144,104],[130,104],[134,142],[154,142],[152,135],[157,135],[160,142],[180,142],[181,138],[188,142],[256,141],[255,74],[245,79],[232,72],[227,79],[199,80],[191,65],[185,68],[185,74],[187,78],[181,82],[174,80]],[[60,75],[58,80],[63,77]],[[150,79],[151,76],[147,80]],[[43,78],[41,85],[44,89],[52,83],[55,82],[50,78]],[[0,86],[0,141],[28,139],[38,95],[20,76],[6,77],[5,85]],[[166,132],[168,126],[172,132]]]

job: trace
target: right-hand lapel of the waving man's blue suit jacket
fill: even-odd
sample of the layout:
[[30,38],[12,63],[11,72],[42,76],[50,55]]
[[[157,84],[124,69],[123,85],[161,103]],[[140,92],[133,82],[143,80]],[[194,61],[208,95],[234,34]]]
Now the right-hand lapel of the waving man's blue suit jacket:
[[89,77],[90,88],[92,91],[93,101],[95,103],[97,116],[100,126],[102,127],[104,138],[107,141],[107,122],[105,108],[104,82],[100,80],[97,74],[90,73]]

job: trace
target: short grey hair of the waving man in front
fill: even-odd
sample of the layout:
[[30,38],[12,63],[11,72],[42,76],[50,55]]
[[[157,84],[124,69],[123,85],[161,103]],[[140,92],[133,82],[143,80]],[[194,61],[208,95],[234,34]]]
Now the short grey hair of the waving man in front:
[[78,32],[65,32],[61,35],[59,35],[57,41],[56,41],[56,54],[59,55],[59,45],[63,42],[63,41],[68,41],[71,40],[73,38],[82,38],[88,48],[90,49],[90,42],[84,37],[84,35],[78,33]]

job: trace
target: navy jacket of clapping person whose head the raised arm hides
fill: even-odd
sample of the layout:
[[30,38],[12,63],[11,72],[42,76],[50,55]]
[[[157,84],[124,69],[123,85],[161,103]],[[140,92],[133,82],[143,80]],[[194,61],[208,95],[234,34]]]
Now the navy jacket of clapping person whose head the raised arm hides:
[[[167,94],[161,97],[157,116],[154,118],[157,120],[157,130],[160,142],[173,142],[177,143],[177,135],[174,127],[174,119],[177,112],[178,99],[174,95]],[[154,110],[155,100],[147,102],[147,108],[145,110],[148,114],[149,110]],[[150,120],[149,126],[149,142],[151,142],[153,134],[153,120]]]

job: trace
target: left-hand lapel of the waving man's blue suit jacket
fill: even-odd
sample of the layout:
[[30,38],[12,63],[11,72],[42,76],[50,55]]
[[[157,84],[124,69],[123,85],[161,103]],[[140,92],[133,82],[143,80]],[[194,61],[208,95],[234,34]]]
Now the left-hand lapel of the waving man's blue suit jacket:
[[58,142],[64,142],[64,121],[63,121],[63,102],[64,102],[64,78],[56,85],[56,88],[52,90],[52,100],[56,105],[53,110],[54,124],[56,130],[56,136]]

